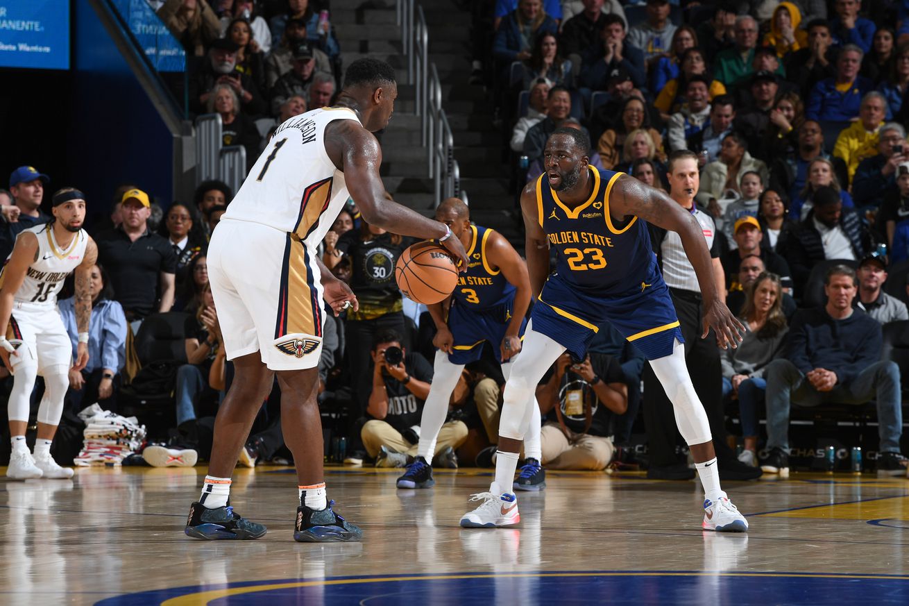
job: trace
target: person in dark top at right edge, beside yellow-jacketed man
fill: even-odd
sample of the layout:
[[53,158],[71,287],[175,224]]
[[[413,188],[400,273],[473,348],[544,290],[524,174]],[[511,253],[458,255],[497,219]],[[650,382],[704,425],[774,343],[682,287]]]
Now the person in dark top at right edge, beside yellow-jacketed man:
[[858,163],[853,177],[852,194],[856,207],[878,207],[890,191],[896,189],[896,169],[909,162],[906,132],[898,122],[881,126],[877,136],[877,156]]

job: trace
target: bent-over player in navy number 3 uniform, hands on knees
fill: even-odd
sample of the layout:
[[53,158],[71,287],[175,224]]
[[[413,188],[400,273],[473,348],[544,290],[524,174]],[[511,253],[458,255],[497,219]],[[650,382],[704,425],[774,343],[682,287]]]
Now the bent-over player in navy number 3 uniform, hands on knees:
[[[438,348],[433,384],[423,407],[417,456],[397,480],[397,487],[401,489],[425,489],[435,485],[430,467],[435,440],[445,423],[448,401],[464,365],[480,359],[483,344],[489,341],[507,379],[511,374],[511,361],[521,351],[524,316],[530,305],[527,266],[508,240],[492,229],[472,224],[470,210],[456,197],[443,200],[435,209],[435,218],[450,227],[454,237],[461,240],[469,264],[467,271],[458,277],[458,284],[448,299],[450,306],[445,301],[429,306],[436,328],[433,345]],[[521,479],[521,490],[539,490],[544,486],[544,470],[539,462],[540,409],[535,399],[534,409],[536,431],[534,433],[532,421],[524,449],[527,459],[524,467],[532,469],[526,470],[526,480]]]

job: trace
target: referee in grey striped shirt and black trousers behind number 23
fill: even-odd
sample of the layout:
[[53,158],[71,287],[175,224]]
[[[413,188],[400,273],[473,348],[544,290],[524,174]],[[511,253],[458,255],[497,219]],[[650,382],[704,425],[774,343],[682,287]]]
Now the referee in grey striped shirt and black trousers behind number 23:
[[[714,220],[694,204],[700,187],[697,156],[688,150],[674,151],[669,157],[669,196],[687,208],[701,225],[710,256],[713,258],[716,290],[725,298],[725,275],[720,263],[720,248],[716,238]],[[672,231],[650,226],[650,237],[663,278],[673,298],[684,337],[685,360],[698,398],[710,422],[714,438],[717,467],[722,480],[750,480],[761,475],[760,468],[739,462],[726,444],[723,410],[723,373],[720,369],[720,351],[716,335],[711,330],[705,337],[704,306],[694,267],[684,252],[682,239]],[[647,477],[660,480],[690,480],[694,470],[676,453],[676,446],[683,444],[676,429],[672,402],[650,366],[644,368],[644,422],[647,428],[650,454]]]

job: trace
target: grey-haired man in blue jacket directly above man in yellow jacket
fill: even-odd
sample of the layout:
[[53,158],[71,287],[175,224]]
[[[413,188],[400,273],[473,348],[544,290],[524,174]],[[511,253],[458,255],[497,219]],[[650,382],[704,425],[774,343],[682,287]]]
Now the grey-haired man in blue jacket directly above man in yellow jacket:
[[858,75],[864,53],[845,45],[836,57],[836,76],[821,80],[811,91],[804,115],[818,122],[849,122],[858,116],[865,93],[874,90],[871,80]]

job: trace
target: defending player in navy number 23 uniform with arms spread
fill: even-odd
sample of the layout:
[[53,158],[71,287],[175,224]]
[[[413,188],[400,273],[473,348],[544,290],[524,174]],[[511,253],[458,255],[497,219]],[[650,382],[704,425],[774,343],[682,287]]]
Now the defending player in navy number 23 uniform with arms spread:
[[[520,520],[517,500],[507,488],[531,418],[529,396],[565,349],[583,358],[594,334],[609,322],[650,360],[673,402],[679,431],[704,485],[702,527],[747,530],[748,522],[720,489],[707,416],[685,367],[679,321],[644,221],[682,239],[704,298],[702,338],[713,329],[721,347],[736,347],[744,327],[720,298],[694,217],[633,177],[590,166],[588,149],[590,141],[581,131],[556,129],[546,142],[544,174],[521,195],[527,267],[539,296],[524,333],[523,353],[505,383],[495,480],[489,492],[473,496],[483,502],[464,515],[461,526],[491,528]],[[558,250],[552,274],[550,247]]]

